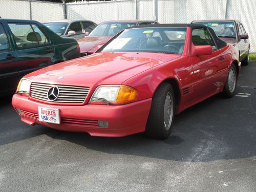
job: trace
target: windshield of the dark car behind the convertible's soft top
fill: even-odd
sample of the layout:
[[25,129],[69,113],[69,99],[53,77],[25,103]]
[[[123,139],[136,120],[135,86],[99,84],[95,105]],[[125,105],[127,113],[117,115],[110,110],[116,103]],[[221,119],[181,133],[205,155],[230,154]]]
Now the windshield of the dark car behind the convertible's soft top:
[[195,22],[210,27],[218,37],[236,38],[233,22]]

